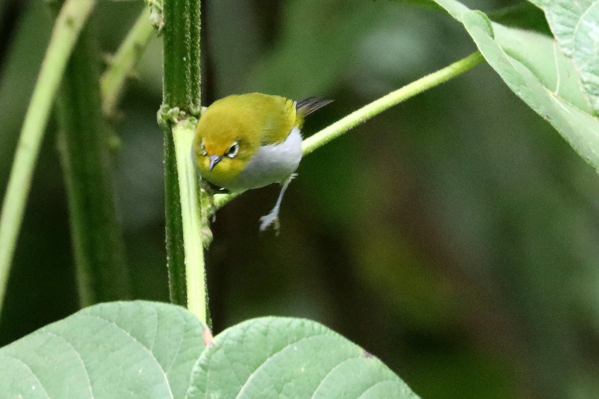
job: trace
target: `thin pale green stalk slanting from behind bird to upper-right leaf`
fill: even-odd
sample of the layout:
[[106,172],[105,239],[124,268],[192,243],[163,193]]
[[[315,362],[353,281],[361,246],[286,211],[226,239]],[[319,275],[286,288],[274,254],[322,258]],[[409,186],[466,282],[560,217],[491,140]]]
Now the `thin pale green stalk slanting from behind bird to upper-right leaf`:
[[[395,92],[391,92],[382,98],[374,100],[370,104],[353,111],[346,117],[341,118],[337,122],[325,127],[325,129],[320,130],[320,132],[314,133],[314,135],[311,135],[305,139],[302,142],[302,154],[306,156],[312,153],[317,148],[322,147],[333,139],[343,135],[343,133],[346,133],[353,127],[358,126],[358,124],[369,120],[370,118],[380,114],[394,105],[397,105],[400,102],[403,102],[404,100],[412,98],[424,92],[425,90],[431,89],[432,87],[438,86],[441,83],[445,83],[446,81],[455,78],[464,72],[467,72],[474,66],[479,65],[479,63],[483,62],[483,60],[482,54],[480,54],[479,51],[476,51],[475,53],[470,54],[470,56],[456,61],[451,65],[440,69],[439,71],[433,72],[430,75],[426,75],[425,77],[413,81],[401,89],[395,90]],[[236,193],[235,195],[215,195],[213,211],[221,208],[239,194],[240,193]]]

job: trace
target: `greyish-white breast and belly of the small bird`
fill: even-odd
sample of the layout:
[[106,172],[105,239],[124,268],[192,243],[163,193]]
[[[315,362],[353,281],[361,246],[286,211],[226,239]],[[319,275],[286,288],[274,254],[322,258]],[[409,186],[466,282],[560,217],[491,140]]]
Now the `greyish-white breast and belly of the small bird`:
[[295,172],[300,160],[301,133],[294,127],[282,143],[261,147],[227,188],[240,191],[283,182]]

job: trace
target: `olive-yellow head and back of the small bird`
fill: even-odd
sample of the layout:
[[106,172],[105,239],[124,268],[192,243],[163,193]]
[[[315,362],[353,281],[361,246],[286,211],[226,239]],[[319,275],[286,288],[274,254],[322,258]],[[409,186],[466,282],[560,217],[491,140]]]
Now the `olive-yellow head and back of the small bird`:
[[212,103],[199,118],[193,151],[202,178],[226,188],[261,145],[285,140],[297,120],[295,102],[261,93]]

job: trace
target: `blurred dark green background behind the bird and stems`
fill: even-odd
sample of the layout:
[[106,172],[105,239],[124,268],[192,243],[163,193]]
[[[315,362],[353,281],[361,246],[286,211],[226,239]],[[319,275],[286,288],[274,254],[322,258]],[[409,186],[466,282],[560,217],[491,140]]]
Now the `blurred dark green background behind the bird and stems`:
[[[491,11],[509,0],[465,2]],[[106,54],[143,4],[99,2]],[[249,91],[335,102],[304,135],[474,51],[461,25],[391,1],[206,0],[204,103]],[[42,1],[0,2],[0,187],[52,29]],[[14,23],[14,25],[12,25]],[[11,26],[14,29],[10,29]],[[167,301],[161,40],[114,131],[117,209],[138,299]],[[316,319],[427,398],[599,397],[599,179],[486,65],[302,161],[282,232],[277,187],[217,214],[216,333],[260,315]],[[0,345],[77,310],[51,121],[0,319]]]

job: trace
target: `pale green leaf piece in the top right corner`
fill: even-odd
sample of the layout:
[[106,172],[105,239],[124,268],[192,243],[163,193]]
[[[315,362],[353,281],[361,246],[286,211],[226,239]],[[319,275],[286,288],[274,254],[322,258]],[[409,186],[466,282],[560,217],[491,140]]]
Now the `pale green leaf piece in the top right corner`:
[[599,112],[599,1],[534,0],[562,47],[580,71],[582,87]]

